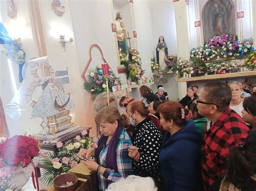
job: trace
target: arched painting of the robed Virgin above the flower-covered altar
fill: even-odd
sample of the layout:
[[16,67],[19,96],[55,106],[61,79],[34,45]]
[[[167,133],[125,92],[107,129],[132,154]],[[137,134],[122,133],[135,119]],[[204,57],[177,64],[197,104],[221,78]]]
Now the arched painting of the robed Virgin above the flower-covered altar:
[[232,0],[208,0],[203,8],[204,42],[220,34],[235,35],[234,4]]

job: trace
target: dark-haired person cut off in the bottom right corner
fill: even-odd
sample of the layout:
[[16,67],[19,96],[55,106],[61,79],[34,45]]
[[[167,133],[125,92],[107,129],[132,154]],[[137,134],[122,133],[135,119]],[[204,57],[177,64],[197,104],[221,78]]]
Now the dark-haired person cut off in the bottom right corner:
[[227,158],[227,173],[220,191],[256,190],[256,131],[251,131],[245,140],[235,147]]

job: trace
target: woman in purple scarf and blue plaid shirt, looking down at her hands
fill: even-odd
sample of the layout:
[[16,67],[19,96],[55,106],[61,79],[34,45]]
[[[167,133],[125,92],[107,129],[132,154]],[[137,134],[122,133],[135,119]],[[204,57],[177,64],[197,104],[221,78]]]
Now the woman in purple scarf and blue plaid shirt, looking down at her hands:
[[83,156],[95,157],[96,161],[87,160],[83,164],[97,172],[100,190],[106,190],[110,183],[126,178],[132,172],[132,159],[128,155],[128,147],[132,142],[120,124],[120,119],[117,108],[108,106],[100,110],[95,122],[102,137],[98,147],[86,150]]

